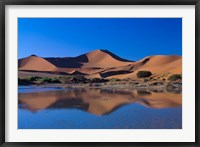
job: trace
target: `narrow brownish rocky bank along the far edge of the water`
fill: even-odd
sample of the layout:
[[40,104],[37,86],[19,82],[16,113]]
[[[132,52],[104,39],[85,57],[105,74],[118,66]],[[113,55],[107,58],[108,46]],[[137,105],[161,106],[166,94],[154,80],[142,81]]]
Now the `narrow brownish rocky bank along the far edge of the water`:
[[102,89],[126,89],[126,90],[151,90],[154,92],[182,92],[182,82],[103,82],[103,83],[71,83],[71,84],[30,84],[41,88],[102,88]]

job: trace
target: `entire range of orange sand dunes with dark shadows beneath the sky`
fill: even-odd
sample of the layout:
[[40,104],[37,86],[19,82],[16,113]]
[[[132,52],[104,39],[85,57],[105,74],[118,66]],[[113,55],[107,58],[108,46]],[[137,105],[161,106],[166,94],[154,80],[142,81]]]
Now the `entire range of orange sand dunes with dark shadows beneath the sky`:
[[35,55],[19,59],[19,71],[38,71],[86,75],[88,78],[137,78],[140,70],[148,70],[153,76],[182,73],[182,57],[156,55],[139,61],[122,59],[107,50],[65,58],[42,58]]

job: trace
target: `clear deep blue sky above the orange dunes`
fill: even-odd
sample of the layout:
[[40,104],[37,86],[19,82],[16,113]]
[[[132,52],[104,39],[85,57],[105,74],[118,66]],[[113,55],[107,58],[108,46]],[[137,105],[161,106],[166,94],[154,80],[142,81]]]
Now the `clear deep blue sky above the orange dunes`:
[[129,60],[182,55],[181,18],[18,18],[18,58],[107,49]]

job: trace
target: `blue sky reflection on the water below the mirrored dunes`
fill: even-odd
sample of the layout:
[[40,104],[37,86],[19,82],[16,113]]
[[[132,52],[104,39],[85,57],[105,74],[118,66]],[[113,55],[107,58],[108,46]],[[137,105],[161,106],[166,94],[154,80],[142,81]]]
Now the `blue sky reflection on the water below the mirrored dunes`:
[[[27,90],[31,91],[31,89]],[[28,91],[24,90],[23,93]],[[123,105],[114,111],[101,116],[76,108],[42,109],[36,112],[20,108],[18,110],[18,128],[181,129],[182,108],[179,106],[175,108],[153,109],[144,107],[138,103],[131,103]]]

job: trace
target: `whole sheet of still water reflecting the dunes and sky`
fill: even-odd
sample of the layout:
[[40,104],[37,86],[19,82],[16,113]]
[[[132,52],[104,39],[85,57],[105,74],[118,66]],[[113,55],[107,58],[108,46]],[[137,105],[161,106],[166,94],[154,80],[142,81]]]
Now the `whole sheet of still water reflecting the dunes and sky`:
[[19,86],[18,129],[181,129],[182,94]]

